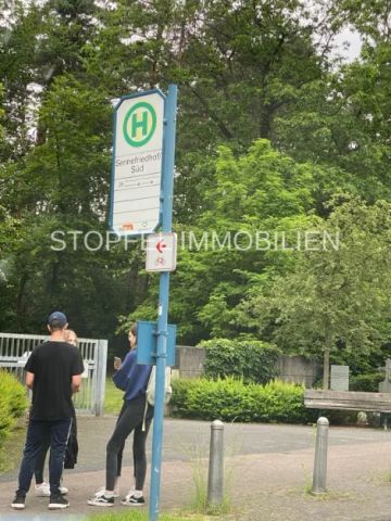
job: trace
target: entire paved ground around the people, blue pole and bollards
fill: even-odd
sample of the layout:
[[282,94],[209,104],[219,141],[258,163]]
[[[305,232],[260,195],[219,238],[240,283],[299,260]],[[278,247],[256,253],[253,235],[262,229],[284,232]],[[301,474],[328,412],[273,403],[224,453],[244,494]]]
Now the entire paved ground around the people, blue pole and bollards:
[[[80,458],[66,471],[71,508],[48,514],[47,499],[28,496],[23,516],[10,499],[17,469],[0,476],[0,520],[80,519],[97,512],[86,499],[104,483],[104,447],[115,417],[79,418]],[[189,508],[193,474],[206,475],[210,423],[165,421],[162,510]],[[315,430],[302,425],[227,424],[226,473],[231,513],[224,521],[391,521],[391,432],[332,428],[329,436],[326,497],[307,493],[312,483]],[[22,448],[22,436],[18,444]],[[122,494],[131,484],[130,445]],[[149,446],[150,458],[150,446]],[[149,478],[149,476],[148,476]],[[148,490],[148,483],[147,483]],[[124,511],[117,505],[115,509]]]

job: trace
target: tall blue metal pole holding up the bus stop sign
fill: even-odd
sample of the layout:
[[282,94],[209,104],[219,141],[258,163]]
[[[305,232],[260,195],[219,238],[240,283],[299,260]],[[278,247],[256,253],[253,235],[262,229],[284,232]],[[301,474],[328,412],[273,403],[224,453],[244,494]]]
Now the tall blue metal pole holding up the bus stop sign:
[[[177,106],[177,86],[169,85],[164,109],[165,132],[163,150],[163,220],[162,231],[172,231],[174,165],[175,165],[175,126]],[[160,484],[162,468],[164,379],[167,358],[167,319],[168,319],[169,272],[160,274],[157,312],[157,351],[156,351],[156,392],[153,419],[150,521],[159,518]]]

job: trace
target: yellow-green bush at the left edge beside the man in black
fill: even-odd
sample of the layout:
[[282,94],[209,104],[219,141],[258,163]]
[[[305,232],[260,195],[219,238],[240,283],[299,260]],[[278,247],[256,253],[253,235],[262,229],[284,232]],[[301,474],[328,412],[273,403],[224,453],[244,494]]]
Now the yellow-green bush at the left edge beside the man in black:
[[0,371],[0,446],[27,407],[26,391],[17,380],[5,371]]

